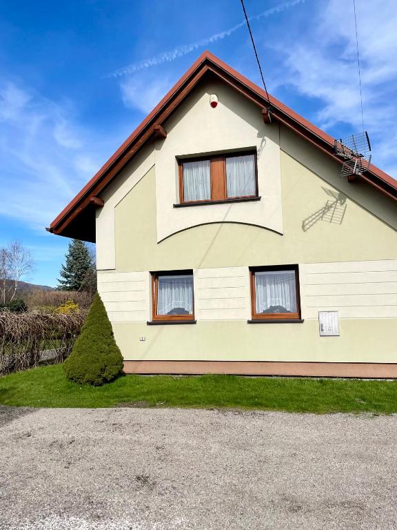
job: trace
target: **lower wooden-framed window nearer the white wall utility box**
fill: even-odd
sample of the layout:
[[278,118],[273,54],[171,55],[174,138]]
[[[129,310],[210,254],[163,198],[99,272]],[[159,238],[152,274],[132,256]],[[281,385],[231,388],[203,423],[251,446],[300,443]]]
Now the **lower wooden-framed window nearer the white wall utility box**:
[[251,268],[252,318],[300,319],[298,266]]

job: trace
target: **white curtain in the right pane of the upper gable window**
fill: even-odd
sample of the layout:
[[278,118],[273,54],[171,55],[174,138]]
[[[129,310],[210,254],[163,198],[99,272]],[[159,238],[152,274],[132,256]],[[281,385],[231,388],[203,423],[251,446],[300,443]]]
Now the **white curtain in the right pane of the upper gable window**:
[[254,155],[226,157],[227,197],[255,195]]

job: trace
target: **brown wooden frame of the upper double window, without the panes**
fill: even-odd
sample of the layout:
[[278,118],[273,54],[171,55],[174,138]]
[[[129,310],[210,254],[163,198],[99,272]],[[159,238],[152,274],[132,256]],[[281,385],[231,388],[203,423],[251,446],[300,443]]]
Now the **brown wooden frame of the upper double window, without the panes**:
[[[236,197],[227,197],[227,179],[226,179],[226,159],[232,157],[243,157],[245,155],[254,155],[254,170],[255,170],[255,193],[254,195],[239,195]],[[185,162],[196,162],[200,160],[210,161],[210,185],[211,185],[211,199],[201,199],[194,201],[185,201],[183,190],[183,164]],[[236,153],[223,153],[217,155],[207,155],[202,157],[179,158],[178,159],[178,173],[179,173],[179,204],[219,204],[221,202],[241,201],[241,199],[256,199],[258,198],[258,160],[256,150],[250,149],[245,151],[237,151]]]

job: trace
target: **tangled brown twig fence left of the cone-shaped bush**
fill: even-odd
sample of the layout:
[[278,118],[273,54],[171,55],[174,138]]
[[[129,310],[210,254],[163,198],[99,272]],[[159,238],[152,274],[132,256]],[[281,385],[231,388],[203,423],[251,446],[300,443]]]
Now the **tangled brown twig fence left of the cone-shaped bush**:
[[86,314],[0,313],[0,375],[63,362]]

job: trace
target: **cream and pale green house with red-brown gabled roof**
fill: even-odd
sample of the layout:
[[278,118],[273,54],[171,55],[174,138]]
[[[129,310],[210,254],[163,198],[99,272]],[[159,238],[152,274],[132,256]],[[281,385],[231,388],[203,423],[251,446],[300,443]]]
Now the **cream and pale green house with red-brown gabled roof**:
[[397,377],[397,181],[342,163],[204,52],[49,228],[96,242],[125,372]]

